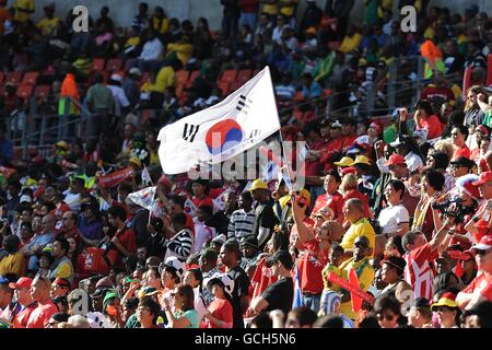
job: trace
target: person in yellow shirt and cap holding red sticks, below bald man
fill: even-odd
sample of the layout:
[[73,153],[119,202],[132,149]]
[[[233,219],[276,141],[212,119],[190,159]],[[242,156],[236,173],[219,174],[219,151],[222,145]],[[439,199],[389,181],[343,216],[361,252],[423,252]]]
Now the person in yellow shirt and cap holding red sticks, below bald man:
[[[340,266],[340,269],[342,270],[342,277],[345,280],[349,280],[350,270],[354,270],[359,280],[359,287],[366,292],[376,275],[368,259],[368,255],[371,254],[370,241],[366,236],[359,236],[355,238],[353,245],[353,257],[344,261]],[[352,310],[350,293],[344,293],[341,299],[340,314],[345,315],[351,319],[358,317],[356,313]]]

